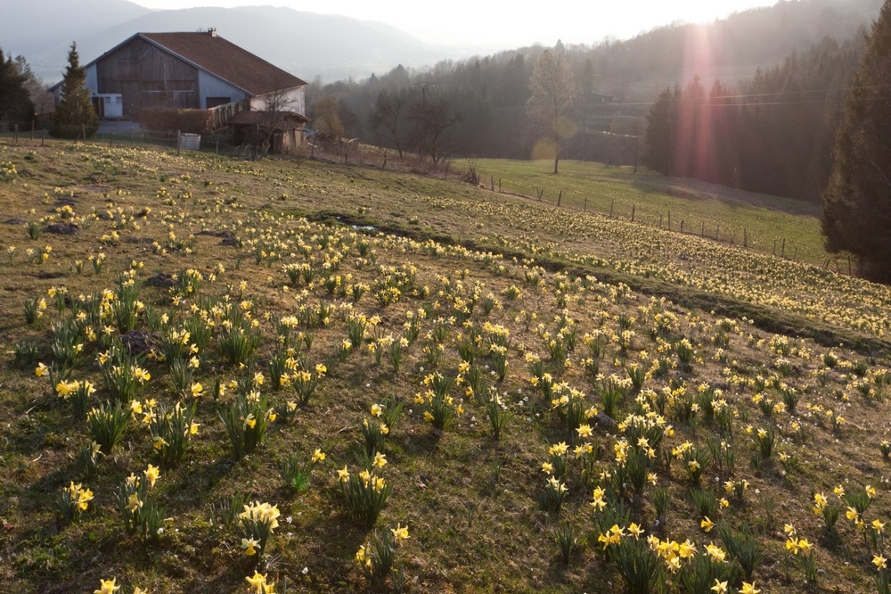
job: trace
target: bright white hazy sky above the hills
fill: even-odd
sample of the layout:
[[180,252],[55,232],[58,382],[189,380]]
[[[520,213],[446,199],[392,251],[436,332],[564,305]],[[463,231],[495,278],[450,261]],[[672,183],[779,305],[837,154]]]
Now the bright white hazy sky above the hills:
[[775,4],[776,0],[613,0],[528,2],[514,0],[132,0],[149,8],[192,6],[288,6],[298,11],[343,14],[382,21],[431,44],[473,49],[508,49],[542,43],[593,44],[603,37],[624,39],[672,21],[712,21],[731,12]]

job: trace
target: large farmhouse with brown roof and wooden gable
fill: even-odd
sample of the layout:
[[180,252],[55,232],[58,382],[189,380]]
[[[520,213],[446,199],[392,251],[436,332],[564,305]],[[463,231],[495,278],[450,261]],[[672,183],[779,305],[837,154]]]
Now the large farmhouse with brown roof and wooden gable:
[[[136,33],[86,64],[86,87],[105,119],[137,120],[143,108],[289,111],[304,118],[307,83],[226,41],[217,29]],[[50,89],[58,98],[61,83]]]

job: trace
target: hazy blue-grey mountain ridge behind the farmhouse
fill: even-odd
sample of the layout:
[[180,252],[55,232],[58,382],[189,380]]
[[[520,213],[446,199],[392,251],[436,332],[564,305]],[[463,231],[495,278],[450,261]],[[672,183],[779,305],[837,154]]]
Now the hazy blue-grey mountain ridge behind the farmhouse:
[[[272,6],[151,11],[126,0],[31,0],[11,6],[9,14],[0,21],[0,47],[24,55],[47,82],[61,79],[72,41],[86,63],[138,32],[211,27],[306,80],[364,78],[399,63],[422,67],[459,57],[454,49],[426,44],[383,22]],[[51,18],[38,20],[36,14]]]

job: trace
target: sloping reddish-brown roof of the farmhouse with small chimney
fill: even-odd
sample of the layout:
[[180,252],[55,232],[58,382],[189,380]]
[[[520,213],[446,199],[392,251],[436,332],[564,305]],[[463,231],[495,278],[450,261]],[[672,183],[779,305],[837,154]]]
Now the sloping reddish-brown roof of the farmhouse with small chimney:
[[159,45],[250,95],[266,95],[307,84],[290,72],[217,36],[213,30],[206,33],[137,33],[135,37],[143,37]]

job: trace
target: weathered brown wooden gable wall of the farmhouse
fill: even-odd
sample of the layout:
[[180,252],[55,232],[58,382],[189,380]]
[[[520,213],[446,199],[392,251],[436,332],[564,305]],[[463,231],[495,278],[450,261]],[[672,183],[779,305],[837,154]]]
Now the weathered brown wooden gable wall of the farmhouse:
[[124,117],[136,119],[143,107],[198,109],[198,69],[136,38],[96,62],[100,93],[120,93]]

